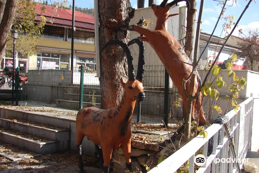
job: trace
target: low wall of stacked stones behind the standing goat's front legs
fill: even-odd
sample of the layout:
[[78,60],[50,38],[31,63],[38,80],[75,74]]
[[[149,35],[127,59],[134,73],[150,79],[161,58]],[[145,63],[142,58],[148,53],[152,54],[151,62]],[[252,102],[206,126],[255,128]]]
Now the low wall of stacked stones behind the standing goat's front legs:
[[[175,152],[172,144],[167,143],[164,148],[159,147],[159,143],[169,139],[167,135],[147,135],[141,133],[132,134],[132,148],[131,148],[131,161],[132,171],[142,171],[146,173],[146,166],[157,166],[158,160],[163,157],[172,155]],[[144,142],[146,141],[146,142]],[[179,141],[174,142],[174,146],[177,147]],[[126,170],[126,162],[121,148],[115,149],[113,153],[114,161],[114,173],[124,173]]]

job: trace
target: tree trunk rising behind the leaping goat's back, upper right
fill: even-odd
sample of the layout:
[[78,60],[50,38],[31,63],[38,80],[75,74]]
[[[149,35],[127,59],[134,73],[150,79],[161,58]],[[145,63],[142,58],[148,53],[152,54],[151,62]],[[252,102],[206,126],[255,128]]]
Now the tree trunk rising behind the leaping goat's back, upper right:
[[194,38],[194,25],[195,25],[195,12],[196,12],[196,1],[190,0],[190,10],[187,12],[186,18],[186,39],[184,51],[188,55],[188,57],[192,60],[191,57],[193,52],[193,38]]

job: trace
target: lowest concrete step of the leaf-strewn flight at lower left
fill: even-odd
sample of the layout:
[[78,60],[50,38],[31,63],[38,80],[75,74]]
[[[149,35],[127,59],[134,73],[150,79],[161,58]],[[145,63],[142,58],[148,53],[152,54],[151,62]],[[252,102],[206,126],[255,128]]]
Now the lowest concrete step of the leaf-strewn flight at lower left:
[[[26,133],[22,135],[17,135],[12,129],[3,129],[0,128],[0,140],[15,146],[22,147],[26,150],[33,151],[39,154],[51,154],[59,151],[66,151],[69,149],[69,141],[39,141],[31,140],[26,136],[29,136]],[[25,137],[24,137],[25,136]]]

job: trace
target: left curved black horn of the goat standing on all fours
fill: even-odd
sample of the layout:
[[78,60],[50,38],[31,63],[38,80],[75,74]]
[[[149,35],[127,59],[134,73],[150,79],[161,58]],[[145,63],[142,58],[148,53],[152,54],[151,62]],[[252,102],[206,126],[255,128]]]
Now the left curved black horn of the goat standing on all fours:
[[121,48],[123,48],[123,50],[125,51],[125,54],[126,54],[126,57],[127,57],[127,62],[128,62],[128,76],[129,76],[129,80],[130,81],[134,81],[135,80],[135,74],[134,74],[133,57],[132,57],[132,54],[131,54],[131,52],[129,50],[129,46],[127,44],[125,44],[121,40],[109,40],[101,48],[100,55],[101,55],[102,51],[104,50],[104,48],[106,46],[113,45],[113,44],[121,46]]

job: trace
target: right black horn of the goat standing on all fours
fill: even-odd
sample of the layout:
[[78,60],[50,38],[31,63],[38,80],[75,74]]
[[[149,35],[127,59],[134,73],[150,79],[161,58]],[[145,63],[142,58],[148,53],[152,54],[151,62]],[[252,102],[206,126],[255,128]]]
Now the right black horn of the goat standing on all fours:
[[144,64],[145,64],[144,43],[142,41],[140,41],[139,38],[134,38],[133,40],[129,41],[128,46],[130,46],[134,43],[138,44],[138,47],[139,47],[138,71],[137,71],[136,79],[139,79],[143,82],[143,80],[144,80]]

